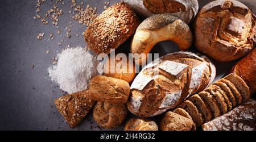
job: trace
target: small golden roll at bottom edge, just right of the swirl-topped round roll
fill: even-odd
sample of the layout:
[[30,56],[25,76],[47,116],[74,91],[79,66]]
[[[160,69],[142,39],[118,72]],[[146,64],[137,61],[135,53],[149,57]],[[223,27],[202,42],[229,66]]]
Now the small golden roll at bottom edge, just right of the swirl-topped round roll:
[[131,118],[125,124],[125,131],[158,131],[158,125],[149,119]]

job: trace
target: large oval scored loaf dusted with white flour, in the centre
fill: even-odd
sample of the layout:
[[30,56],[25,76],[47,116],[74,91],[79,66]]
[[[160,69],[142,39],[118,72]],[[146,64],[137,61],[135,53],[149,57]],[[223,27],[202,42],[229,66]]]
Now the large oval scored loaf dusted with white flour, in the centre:
[[174,52],[147,64],[131,84],[129,111],[141,117],[162,114],[202,91],[216,70],[205,56]]

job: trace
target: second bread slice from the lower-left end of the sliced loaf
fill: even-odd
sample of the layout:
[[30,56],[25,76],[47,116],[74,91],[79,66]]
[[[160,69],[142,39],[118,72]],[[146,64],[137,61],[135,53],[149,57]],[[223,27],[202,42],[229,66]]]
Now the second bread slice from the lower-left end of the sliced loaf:
[[188,100],[199,109],[204,118],[204,122],[208,122],[210,119],[212,119],[212,112],[210,111],[210,108],[204,103],[198,94],[193,95],[192,97],[188,98]]

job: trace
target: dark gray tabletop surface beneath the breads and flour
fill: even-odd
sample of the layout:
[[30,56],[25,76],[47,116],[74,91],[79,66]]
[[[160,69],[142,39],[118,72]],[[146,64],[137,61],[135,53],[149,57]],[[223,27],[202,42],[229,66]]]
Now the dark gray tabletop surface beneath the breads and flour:
[[[68,13],[71,10],[71,0],[64,0],[65,4],[59,5],[59,8],[64,10],[64,14],[59,18],[61,35],[57,35],[55,26],[42,26],[40,20],[33,19],[36,15],[36,1],[0,1],[0,130],[72,130],[54,105],[54,99],[64,92],[50,80],[47,69],[52,65],[52,57],[68,43],[71,43],[72,47],[86,46],[81,36],[86,26],[72,20]],[[47,0],[43,3],[41,13],[45,14],[46,10],[53,7],[54,2]],[[96,6],[98,14],[103,11],[104,2],[108,1],[84,1],[85,5]],[[117,1],[110,1],[110,5],[115,2]],[[201,0],[199,5],[202,7],[208,2]],[[255,10],[255,0],[247,2],[251,3],[250,6],[254,6]],[[73,22],[71,39],[67,39],[64,32],[69,21]],[[46,33],[41,41],[36,40],[39,32]],[[50,32],[53,32],[54,40],[49,40]],[[76,34],[79,34],[79,37],[76,37]],[[62,39],[64,43],[57,45]],[[128,52],[129,42],[130,39],[121,45],[118,51]],[[193,50],[193,47],[191,49]],[[46,55],[47,50],[50,51],[49,55]],[[176,50],[174,43],[164,41],[157,44],[152,53],[164,55]],[[235,62],[214,62],[217,78],[224,76]],[[31,68],[31,65],[34,65],[34,68]],[[158,121],[159,117],[154,119]],[[113,130],[122,130],[122,127]],[[94,123],[92,115],[89,115],[74,130],[101,128]]]

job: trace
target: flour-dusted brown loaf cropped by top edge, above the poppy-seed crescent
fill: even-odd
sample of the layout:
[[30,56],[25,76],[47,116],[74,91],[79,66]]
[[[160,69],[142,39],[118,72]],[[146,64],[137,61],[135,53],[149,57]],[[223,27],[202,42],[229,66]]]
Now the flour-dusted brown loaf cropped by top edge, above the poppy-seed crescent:
[[197,0],[125,0],[137,14],[144,17],[169,13],[190,23],[195,18],[199,5]]

